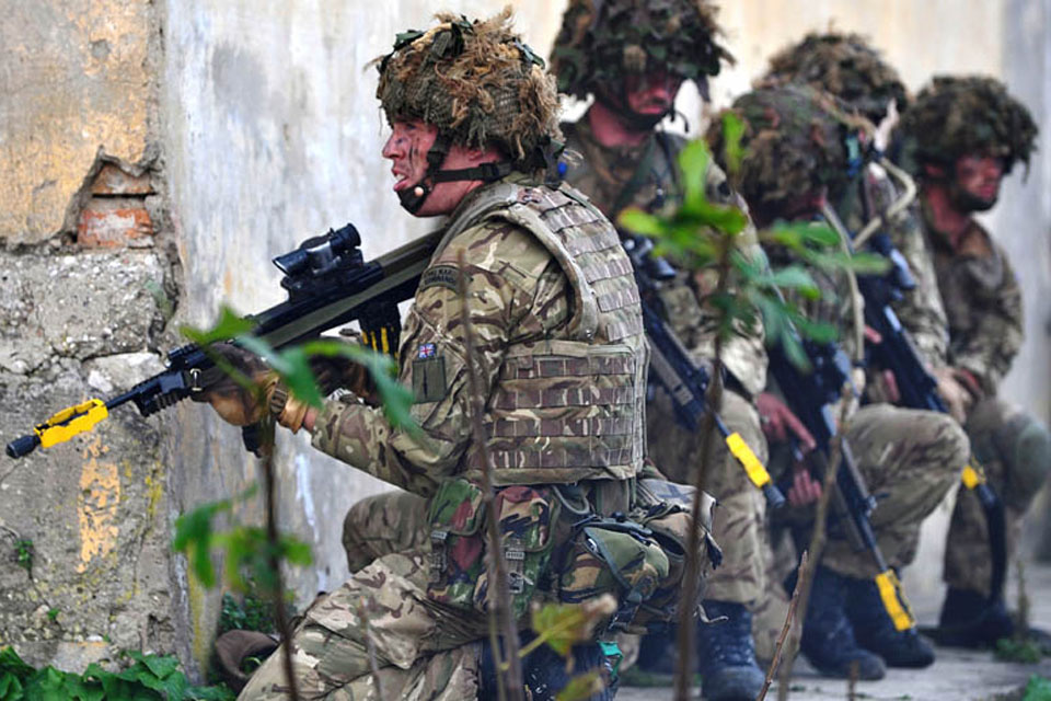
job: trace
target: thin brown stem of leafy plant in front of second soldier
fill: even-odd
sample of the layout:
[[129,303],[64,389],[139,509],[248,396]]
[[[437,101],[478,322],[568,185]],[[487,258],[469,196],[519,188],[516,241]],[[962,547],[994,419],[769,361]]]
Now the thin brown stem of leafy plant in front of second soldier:
[[[719,252],[718,281],[715,287],[715,299],[720,299],[729,287],[730,253],[734,240],[729,234],[721,238],[723,250]],[[725,312],[724,317],[725,317]],[[712,382],[708,384],[706,398],[708,411],[704,414],[701,427],[701,464],[694,476],[693,504],[690,507],[692,528],[686,542],[685,572],[682,577],[682,598],[679,604],[679,659],[675,667],[675,701],[689,701],[690,689],[693,686],[694,667],[694,635],[696,633],[694,613],[697,606],[697,587],[701,578],[701,509],[704,503],[704,487],[707,483],[708,446],[712,434],[715,433],[715,413],[723,403],[723,327],[724,319],[719,319],[718,331],[715,335],[715,359],[712,363]]]

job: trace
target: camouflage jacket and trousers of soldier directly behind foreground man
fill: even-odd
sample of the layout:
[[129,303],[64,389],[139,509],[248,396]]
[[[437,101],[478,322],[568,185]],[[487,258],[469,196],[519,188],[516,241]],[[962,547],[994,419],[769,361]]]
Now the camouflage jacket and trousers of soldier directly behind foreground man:
[[[566,181],[587,193],[611,219],[628,206],[654,210],[681,196],[675,157],[685,145],[682,137],[654,133],[637,147],[613,149],[594,139],[587,119],[563,124],[562,130],[566,135],[566,147],[584,156],[581,163],[568,170]],[[630,199],[620,202],[640,164],[648,164],[646,177]],[[708,169],[707,195],[714,202],[728,202],[732,197],[726,176],[715,164]],[[616,205],[620,207],[614,209]],[[691,280],[680,275],[661,295],[672,331],[701,363],[708,361],[715,353],[714,317],[704,311],[705,281],[704,276]],[[751,330],[748,336],[734,337],[725,345],[724,356],[727,368],[749,392],[761,391],[766,379],[761,329]],[[766,439],[750,400],[727,390],[719,415],[765,462]],[[649,456],[657,467],[672,481],[692,484],[693,470],[702,461],[700,435],[677,423],[670,398],[663,391],[658,391],[648,403],[646,420],[651,436]],[[723,564],[706,581],[706,597],[752,604],[764,587],[761,550],[766,504],[762,492],[748,480],[721,438],[715,435],[709,445],[707,464],[711,467],[705,490],[719,503],[713,527],[716,533],[723,533],[719,538]]]

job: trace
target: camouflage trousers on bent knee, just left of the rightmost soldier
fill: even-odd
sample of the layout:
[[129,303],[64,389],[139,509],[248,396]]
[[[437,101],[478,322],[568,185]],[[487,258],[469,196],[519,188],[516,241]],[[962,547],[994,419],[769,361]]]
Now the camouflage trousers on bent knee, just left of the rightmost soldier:
[[[916,556],[920,525],[937,507],[967,464],[967,435],[950,416],[899,409],[863,406],[846,433],[858,470],[876,496],[873,530],[892,567]],[[821,564],[840,574],[868,578],[870,556],[845,538],[830,538]]]

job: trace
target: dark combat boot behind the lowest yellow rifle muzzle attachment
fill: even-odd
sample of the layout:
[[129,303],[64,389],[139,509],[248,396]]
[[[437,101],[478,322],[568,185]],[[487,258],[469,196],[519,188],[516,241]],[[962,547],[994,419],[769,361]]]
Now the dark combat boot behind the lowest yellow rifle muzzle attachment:
[[921,669],[934,663],[934,648],[915,628],[899,631],[873,579],[846,579],[846,617],[857,643],[883,658],[888,667]]

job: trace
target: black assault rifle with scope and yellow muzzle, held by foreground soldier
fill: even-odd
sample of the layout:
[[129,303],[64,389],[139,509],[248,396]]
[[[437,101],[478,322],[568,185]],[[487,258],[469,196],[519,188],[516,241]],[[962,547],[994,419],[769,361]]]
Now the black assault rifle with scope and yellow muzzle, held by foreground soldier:
[[[288,291],[288,299],[249,317],[255,324],[251,333],[279,349],[357,321],[373,349],[396,350],[401,330],[397,303],[416,292],[442,233],[435,231],[368,262],[353,225],[308,239],[274,258],[274,265],[285,274],[281,287]],[[128,402],[149,416],[207,389],[222,376],[195,344],[169,353],[165,365],[163,372],[113,399],[91,399],[63,409],[37,424],[32,434],[9,443],[8,456],[21,458],[37,447],[50,448],[69,440],[91,430],[111,410]],[[245,443],[251,444],[249,432]]]

